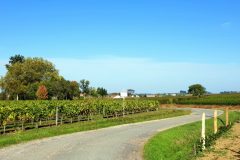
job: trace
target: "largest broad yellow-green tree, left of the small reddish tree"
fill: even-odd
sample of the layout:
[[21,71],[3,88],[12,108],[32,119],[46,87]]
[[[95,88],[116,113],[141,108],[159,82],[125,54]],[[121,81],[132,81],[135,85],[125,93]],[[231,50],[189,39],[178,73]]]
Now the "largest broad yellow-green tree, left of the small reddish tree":
[[[12,63],[12,62],[11,62]],[[23,62],[9,65],[4,77],[5,91],[16,96],[16,99],[26,99],[28,87],[33,83],[59,79],[54,65],[42,58],[27,58]]]

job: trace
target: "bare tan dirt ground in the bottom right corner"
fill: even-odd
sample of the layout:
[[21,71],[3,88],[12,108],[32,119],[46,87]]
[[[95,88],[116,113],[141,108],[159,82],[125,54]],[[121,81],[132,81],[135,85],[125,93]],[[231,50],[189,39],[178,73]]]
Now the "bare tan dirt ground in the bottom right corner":
[[219,138],[213,149],[198,160],[240,160],[240,123]]

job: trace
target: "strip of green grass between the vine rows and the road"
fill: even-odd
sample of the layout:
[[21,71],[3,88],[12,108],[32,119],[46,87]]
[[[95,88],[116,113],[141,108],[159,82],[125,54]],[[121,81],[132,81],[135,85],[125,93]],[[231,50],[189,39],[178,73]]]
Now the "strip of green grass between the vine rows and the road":
[[155,119],[176,117],[181,115],[187,115],[190,113],[191,111],[186,110],[159,109],[158,111],[154,112],[126,115],[124,117],[115,117],[108,119],[98,117],[92,121],[63,124],[61,126],[32,129],[27,131],[17,131],[15,133],[0,135],[0,148],[35,139],[53,137],[80,131],[94,130],[127,123],[136,123]]

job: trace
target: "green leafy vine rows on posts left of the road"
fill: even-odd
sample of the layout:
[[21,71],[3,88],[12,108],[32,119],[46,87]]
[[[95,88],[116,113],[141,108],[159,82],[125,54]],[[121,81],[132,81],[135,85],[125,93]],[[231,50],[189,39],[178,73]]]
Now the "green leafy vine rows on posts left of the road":
[[158,110],[153,100],[0,101],[0,133]]

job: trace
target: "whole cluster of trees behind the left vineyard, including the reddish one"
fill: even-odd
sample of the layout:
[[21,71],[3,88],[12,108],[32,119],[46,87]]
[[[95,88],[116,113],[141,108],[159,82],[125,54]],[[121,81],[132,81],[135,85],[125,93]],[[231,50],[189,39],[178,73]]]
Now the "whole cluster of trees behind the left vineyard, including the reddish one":
[[103,97],[107,90],[90,87],[88,80],[69,81],[54,64],[43,58],[10,57],[7,73],[0,77],[1,100],[78,99],[80,95]]

